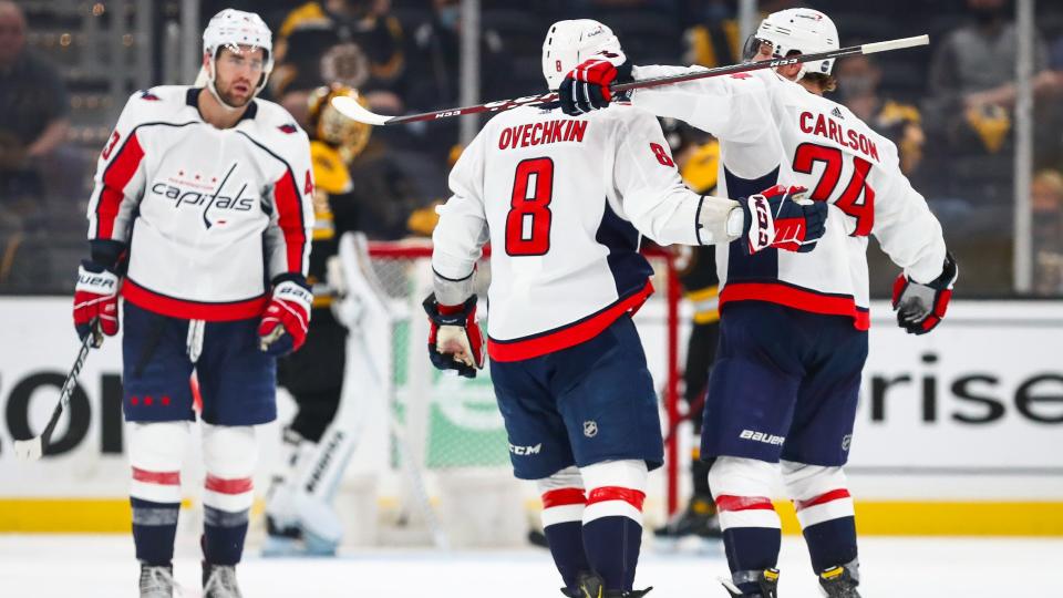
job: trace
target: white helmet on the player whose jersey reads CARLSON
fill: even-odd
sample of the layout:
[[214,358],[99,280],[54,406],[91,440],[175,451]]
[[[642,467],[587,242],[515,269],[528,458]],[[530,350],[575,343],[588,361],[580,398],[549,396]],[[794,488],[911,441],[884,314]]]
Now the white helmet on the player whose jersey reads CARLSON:
[[[773,12],[761,21],[751,42],[766,41],[773,47],[773,54],[786,58],[793,51],[802,54],[826,52],[838,49],[838,28],[829,17],[818,10],[807,8],[786,9]],[[752,47],[751,47],[752,48]],[[749,51],[746,52],[749,54]],[[755,51],[753,52],[755,53]],[[805,62],[801,74],[830,74],[834,60]]]

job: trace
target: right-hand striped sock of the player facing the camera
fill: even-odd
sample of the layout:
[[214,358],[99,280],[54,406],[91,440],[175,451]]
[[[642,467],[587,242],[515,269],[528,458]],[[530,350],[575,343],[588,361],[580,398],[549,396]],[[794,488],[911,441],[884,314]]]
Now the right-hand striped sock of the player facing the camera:
[[203,556],[211,565],[236,565],[244,554],[254,502],[251,474],[257,446],[250,426],[205,425]]

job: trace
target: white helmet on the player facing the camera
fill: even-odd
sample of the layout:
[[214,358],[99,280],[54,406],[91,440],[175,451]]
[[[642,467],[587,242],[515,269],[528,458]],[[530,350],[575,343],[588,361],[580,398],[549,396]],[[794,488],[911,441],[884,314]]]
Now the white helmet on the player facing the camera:
[[[218,91],[214,86],[214,80],[217,73],[218,52],[223,48],[237,48],[240,45],[250,45],[251,48],[261,48],[266,54],[266,63],[262,66],[262,78],[255,89],[257,95],[266,87],[266,81],[269,80],[269,73],[274,70],[274,34],[262,18],[254,12],[245,12],[236,9],[225,9],[210,18],[207,28],[203,30],[203,53],[210,56],[211,68],[209,72],[200,72],[197,85],[206,84],[214,94],[215,99],[221,105],[234,109],[218,96]],[[203,80],[206,81],[203,81]]]

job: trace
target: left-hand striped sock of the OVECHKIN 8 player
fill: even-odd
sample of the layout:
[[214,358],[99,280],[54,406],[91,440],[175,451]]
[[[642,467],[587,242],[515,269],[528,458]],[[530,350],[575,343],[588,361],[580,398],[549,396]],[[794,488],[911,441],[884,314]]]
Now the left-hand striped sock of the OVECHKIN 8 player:
[[554,564],[569,590],[580,573],[590,571],[584,554],[584,482],[576,467],[567,467],[538,481],[543,494],[543,533]]

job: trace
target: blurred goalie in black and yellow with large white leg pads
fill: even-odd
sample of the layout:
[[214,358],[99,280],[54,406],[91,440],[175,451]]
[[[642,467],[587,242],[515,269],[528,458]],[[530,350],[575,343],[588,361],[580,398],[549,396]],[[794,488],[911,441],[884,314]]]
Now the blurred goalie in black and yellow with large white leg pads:
[[[285,429],[281,463],[274,474],[266,505],[269,537],[262,550],[265,556],[336,554],[342,526],[331,498],[354,451],[361,423],[353,416],[359,413],[359,405],[344,405],[340,411],[341,403],[348,399],[371,401],[372,391],[380,390],[374,375],[347,375],[350,368],[364,368],[379,360],[361,350],[361,339],[350,336],[367,333],[367,327],[361,326],[362,316],[367,306],[380,302],[361,292],[348,298],[351,287],[379,295],[374,285],[355,285],[354,279],[370,276],[357,268],[364,260],[345,260],[348,266],[355,266],[347,276],[340,266],[340,236],[358,226],[357,198],[348,165],[365,147],[372,130],[332,107],[332,99],[341,95],[361,101],[358,92],[342,85],[319,87],[310,94],[314,226],[307,280],[313,290],[313,309],[306,346],[279,363],[279,382],[296,400],[298,411]],[[361,249],[361,245],[352,247]],[[339,309],[339,302],[348,299],[362,306],[354,321],[344,318],[351,315],[350,310]],[[347,350],[350,344],[352,351]]]

